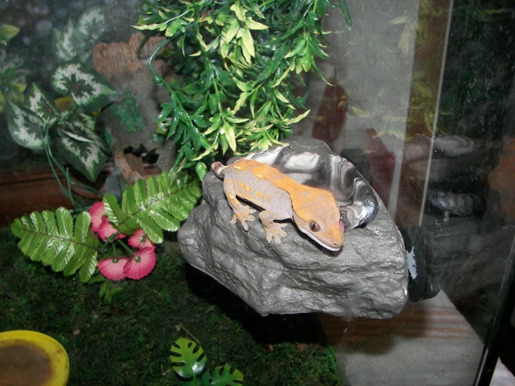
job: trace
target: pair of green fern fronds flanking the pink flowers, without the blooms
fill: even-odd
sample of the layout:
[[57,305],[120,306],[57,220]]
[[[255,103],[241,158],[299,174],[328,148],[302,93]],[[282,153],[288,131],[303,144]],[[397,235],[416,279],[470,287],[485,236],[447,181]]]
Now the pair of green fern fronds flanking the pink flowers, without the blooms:
[[[157,244],[163,241],[163,230],[178,230],[180,222],[187,219],[200,196],[197,178],[189,178],[185,173],[171,177],[164,172],[128,187],[123,192],[121,208],[112,194],[105,194],[103,203],[107,219],[119,233],[130,236],[143,229],[146,237]],[[80,213],[74,224],[70,212],[59,208],[55,213],[44,210],[15,219],[11,231],[21,239],[18,247],[23,254],[33,261],[51,265],[54,271],[63,271],[66,276],[80,270],[82,282],[96,282],[102,279],[91,277],[97,266],[97,256],[120,256],[126,251],[120,253],[116,247],[109,247],[116,240],[114,237],[100,245],[90,225],[88,212]],[[110,302],[120,291],[120,288],[104,283],[100,296]]]

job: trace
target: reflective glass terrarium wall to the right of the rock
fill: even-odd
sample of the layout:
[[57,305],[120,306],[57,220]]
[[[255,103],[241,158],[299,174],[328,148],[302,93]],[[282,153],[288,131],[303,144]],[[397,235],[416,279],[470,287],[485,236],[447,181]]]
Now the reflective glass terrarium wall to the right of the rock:
[[311,79],[298,133],[352,160],[384,201],[412,302],[391,321],[321,320],[349,385],[484,382],[513,276],[514,5],[347,5],[351,30],[326,20],[330,85]]

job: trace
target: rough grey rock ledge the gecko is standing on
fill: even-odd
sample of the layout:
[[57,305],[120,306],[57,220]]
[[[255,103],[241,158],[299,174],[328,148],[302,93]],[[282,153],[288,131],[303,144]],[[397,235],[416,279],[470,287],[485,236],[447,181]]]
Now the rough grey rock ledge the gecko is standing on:
[[[313,152],[321,141],[294,138],[290,144]],[[408,298],[405,250],[381,201],[376,218],[346,232],[344,247],[334,253],[318,247],[293,223],[286,226],[281,245],[275,245],[268,244],[259,221],[249,222],[246,232],[240,224],[229,224],[232,217],[222,180],[208,173],[203,200],[180,228],[178,240],[188,263],[259,314],[322,311],[391,318],[403,309]]]

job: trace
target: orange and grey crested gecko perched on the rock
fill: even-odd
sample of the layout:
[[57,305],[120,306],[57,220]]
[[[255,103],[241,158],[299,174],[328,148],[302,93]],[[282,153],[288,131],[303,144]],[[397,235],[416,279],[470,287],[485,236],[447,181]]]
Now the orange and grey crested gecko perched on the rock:
[[247,222],[255,221],[256,210],[238,200],[261,208],[259,219],[268,243],[277,245],[287,236],[286,224],[292,219],[298,229],[322,247],[339,251],[344,245],[344,225],[335,197],[328,190],[301,185],[263,162],[240,159],[225,166],[214,162],[211,170],[224,180],[224,192],[233,210],[231,224],[239,220],[245,231]]

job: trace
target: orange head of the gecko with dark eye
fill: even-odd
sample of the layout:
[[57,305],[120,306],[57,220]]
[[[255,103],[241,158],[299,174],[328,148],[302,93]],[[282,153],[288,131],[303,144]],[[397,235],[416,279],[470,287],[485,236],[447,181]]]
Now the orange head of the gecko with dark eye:
[[318,192],[313,201],[294,210],[293,217],[298,229],[322,247],[339,251],[344,245],[341,213],[330,192]]

